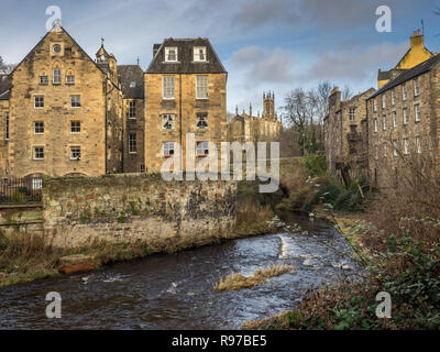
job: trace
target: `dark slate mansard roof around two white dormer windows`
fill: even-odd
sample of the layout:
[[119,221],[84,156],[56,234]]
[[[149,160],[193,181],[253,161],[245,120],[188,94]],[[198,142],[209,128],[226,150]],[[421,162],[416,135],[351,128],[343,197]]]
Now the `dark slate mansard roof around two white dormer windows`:
[[[178,63],[165,63],[165,47],[177,47]],[[195,46],[206,46],[207,63],[195,63]],[[157,48],[154,47],[154,48]],[[147,74],[227,74],[211,43],[206,37],[166,38],[146,68]]]

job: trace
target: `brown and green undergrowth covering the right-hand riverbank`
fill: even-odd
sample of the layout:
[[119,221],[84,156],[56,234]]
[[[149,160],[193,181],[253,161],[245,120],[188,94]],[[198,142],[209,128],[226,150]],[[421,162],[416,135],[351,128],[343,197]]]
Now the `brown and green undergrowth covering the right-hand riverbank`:
[[[317,186],[324,197],[320,191]],[[322,201],[323,208],[315,210],[330,213],[366,263],[366,278],[309,292],[295,310],[250,321],[243,329],[439,329],[439,194],[440,179],[424,177],[399,191],[371,195],[354,217],[341,217],[336,202]],[[392,318],[376,316],[380,292],[391,295]]]

